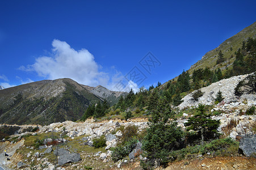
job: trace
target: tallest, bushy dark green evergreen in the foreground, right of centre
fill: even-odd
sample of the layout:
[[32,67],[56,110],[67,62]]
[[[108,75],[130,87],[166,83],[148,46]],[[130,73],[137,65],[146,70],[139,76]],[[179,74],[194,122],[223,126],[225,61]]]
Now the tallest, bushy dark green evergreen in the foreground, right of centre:
[[177,122],[169,122],[172,116],[173,112],[170,111],[165,97],[158,100],[142,143],[147,160],[141,164],[147,164],[149,169],[153,168],[155,163],[164,167],[169,162],[170,152],[179,148],[183,131],[177,127]]

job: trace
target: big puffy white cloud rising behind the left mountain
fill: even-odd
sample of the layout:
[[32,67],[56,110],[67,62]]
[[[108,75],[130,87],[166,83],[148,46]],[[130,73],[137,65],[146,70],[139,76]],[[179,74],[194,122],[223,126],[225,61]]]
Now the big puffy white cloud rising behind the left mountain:
[[[116,84],[124,78],[115,67],[111,67],[114,74],[100,71],[101,66],[95,62],[93,54],[86,49],[74,50],[68,43],[60,40],[53,40],[52,46],[51,57],[36,58],[33,65],[21,66],[19,69],[35,71],[39,76],[47,79],[71,78],[87,86],[102,85],[110,90],[116,90]],[[137,84],[132,81],[126,84],[125,88],[132,87],[134,90],[137,88]]]

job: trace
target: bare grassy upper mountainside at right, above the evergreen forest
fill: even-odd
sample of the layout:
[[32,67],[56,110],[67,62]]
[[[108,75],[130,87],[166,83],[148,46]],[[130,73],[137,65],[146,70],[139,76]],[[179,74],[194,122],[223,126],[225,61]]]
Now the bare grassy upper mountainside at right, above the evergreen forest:
[[[236,35],[225,40],[217,48],[204,54],[202,59],[190,67],[188,72],[191,74],[195,69],[204,69],[205,67],[209,67],[211,70],[218,68],[225,70],[232,67],[232,64],[235,60],[234,53],[239,48],[242,48],[243,41],[246,41],[249,37],[253,39],[256,38],[255,30],[256,22],[251,24],[249,27],[242,29],[242,31],[238,32]],[[224,54],[225,62],[217,65],[216,61],[220,50]]]

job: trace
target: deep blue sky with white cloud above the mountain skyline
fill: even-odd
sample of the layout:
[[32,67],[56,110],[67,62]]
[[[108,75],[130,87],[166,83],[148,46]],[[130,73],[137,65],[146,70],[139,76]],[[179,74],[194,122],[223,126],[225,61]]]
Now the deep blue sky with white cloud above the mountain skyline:
[[156,86],[253,24],[255,6],[256,1],[0,1],[0,85],[65,77],[112,90]]

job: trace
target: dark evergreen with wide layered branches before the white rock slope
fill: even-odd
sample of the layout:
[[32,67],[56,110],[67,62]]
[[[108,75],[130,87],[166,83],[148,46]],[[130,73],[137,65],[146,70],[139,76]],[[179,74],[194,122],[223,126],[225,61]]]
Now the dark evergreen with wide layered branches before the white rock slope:
[[211,114],[205,113],[204,105],[199,104],[197,111],[199,113],[195,114],[193,117],[189,117],[184,125],[187,127],[187,131],[196,131],[198,137],[201,138],[201,143],[203,145],[204,141],[216,139],[220,136],[217,131],[220,125],[220,120],[212,120]]

